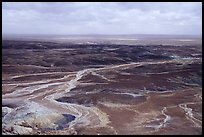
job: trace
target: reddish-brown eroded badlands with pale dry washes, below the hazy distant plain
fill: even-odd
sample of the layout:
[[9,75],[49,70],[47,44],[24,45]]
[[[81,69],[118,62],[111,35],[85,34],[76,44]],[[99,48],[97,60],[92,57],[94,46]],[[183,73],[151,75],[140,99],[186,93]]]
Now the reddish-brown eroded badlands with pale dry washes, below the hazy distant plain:
[[201,46],[2,50],[3,134],[202,134]]

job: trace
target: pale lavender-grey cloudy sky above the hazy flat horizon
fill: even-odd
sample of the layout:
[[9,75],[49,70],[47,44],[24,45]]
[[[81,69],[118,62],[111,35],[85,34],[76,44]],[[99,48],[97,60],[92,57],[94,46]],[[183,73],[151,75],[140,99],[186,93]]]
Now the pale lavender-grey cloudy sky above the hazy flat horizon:
[[7,34],[202,34],[201,2],[3,2]]

